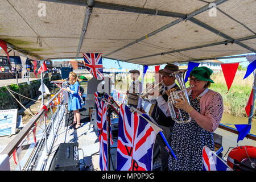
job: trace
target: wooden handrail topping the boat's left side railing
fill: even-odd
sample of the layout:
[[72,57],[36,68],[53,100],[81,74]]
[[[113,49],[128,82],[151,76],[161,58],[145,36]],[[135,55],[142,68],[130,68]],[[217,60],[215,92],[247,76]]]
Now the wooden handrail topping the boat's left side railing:
[[[61,90],[59,90],[59,92],[57,92],[45,105],[48,107],[49,104],[51,104],[51,102],[55,100],[55,98],[60,94],[60,92]],[[30,121],[26,124],[26,126],[24,126],[22,130],[20,130],[20,132],[16,135],[16,137],[13,140],[11,140],[11,142],[7,144],[7,146],[1,151],[0,155],[7,154],[10,157],[11,154],[13,154],[16,147],[19,146],[19,143],[22,142],[22,140],[27,136],[30,129],[35,125],[38,119],[42,117],[42,115],[45,112],[46,110],[44,109],[40,110],[38,114],[32,117]]]

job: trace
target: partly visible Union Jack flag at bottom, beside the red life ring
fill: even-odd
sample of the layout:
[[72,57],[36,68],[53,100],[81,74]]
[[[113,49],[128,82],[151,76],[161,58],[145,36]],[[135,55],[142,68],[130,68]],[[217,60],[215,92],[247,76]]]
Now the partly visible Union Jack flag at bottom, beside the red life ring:
[[233,171],[228,164],[211,151],[210,148],[203,148],[203,171]]

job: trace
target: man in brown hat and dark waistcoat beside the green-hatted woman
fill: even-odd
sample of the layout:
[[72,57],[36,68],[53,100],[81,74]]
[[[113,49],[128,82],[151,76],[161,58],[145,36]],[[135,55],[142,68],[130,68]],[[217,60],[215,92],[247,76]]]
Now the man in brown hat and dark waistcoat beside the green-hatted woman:
[[[155,90],[154,96],[156,97],[155,100],[151,101],[151,103],[154,102],[155,106],[152,111],[151,117],[158,123],[159,127],[163,130],[164,137],[166,137],[168,143],[171,143],[171,133],[172,129],[174,127],[174,121],[170,117],[170,112],[168,110],[168,95],[164,94],[167,90],[170,89],[178,89],[179,86],[175,83],[175,77],[170,76],[171,73],[179,71],[179,67],[177,67],[174,64],[167,64],[164,69],[159,70],[159,75],[162,78],[164,89],[162,92],[158,92],[158,88]],[[156,93],[158,92],[158,93]],[[161,139],[159,139],[159,134],[156,137],[155,140],[155,147],[154,147],[154,156],[157,154],[157,152],[160,149],[160,155],[162,160],[162,170],[167,171],[168,170],[168,153],[166,149],[163,146],[163,143]],[[160,147],[160,148],[158,148]]]

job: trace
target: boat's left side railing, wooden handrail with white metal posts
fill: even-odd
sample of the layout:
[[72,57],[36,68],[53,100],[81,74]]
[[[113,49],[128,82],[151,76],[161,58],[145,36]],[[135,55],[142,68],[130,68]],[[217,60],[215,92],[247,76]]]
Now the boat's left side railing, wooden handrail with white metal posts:
[[[35,164],[35,159],[38,157],[38,152],[41,150],[42,146],[43,146],[43,143],[46,142],[46,146],[47,146],[47,135],[49,133],[49,130],[52,129],[53,131],[53,136],[55,137],[56,133],[57,133],[57,130],[55,131],[55,128],[52,127],[54,126],[54,121],[56,120],[57,118],[57,123],[60,122],[60,113],[59,113],[59,110],[63,110],[63,100],[60,101],[60,103],[57,105],[57,109],[55,111],[55,113],[53,114],[53,111],[52,111],[52,107],[51,107],[51,104],[52,102],[55,100],[55,98],[57,96],[59,96],[59,94],[61,93],[61,90],[59,90],[59,92],[57,92],[55,94],[55,96],[53,96],[46,104],[45,106],[47,108],[50,107],[51,109],[51,120],[49,121],[48,125],[46,126],[46,119],[45,119],[45,116],[44,114],[46,113],[46,109],[41,109],[34,117],[32,117],[30,119],[30,121],[23,127],[22,130],[20,130],[20,132],[16,135],[16,137],[11,140],[11,142],[1,151],[0,155],[9,155],[9,157],[13,154],[13,152],[16,150],[16,148],[20,145],[20,143],[23,141],[23,139],[27,136],[27,134],[31,131],[32,127],[35,126],[35,123],[37,121],[39,121],[39,119],[41,117],[44,117],[44,122],[45,122],[45,129],[43,131],[43,136],[38,144],[35,146],[34,148],[34,151],[32,152],[30,158],[28,159],[27,161],[27,164],[25,168],[23,168],[23,170],[31,170],[32,169],[32,166],[34,166]],[[62,115],[64,114],[61,113]],[[56,125],[57,127],[59,127],[59,125],[57,124]],[[52,148],[52,145],[53,145],[53,142],[54,142],[54,138],[53,140],[51,141],[49,147],[46,147],[47,148],[47,153],[49,154],[49,152],[51,151],[51,148]],[[32,164],[32,165],[31,165]]]

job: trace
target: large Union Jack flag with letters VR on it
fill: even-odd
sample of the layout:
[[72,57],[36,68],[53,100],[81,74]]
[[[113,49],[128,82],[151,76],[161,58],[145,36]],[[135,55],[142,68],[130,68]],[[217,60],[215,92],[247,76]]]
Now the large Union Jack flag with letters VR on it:
[[118,121],[117,170],[151,171],[157,133],[146,119],[122,104]]

